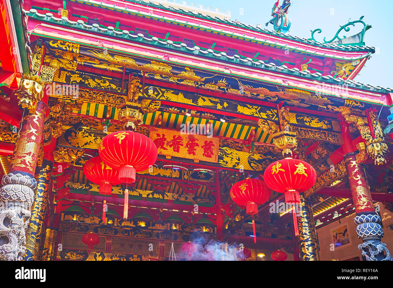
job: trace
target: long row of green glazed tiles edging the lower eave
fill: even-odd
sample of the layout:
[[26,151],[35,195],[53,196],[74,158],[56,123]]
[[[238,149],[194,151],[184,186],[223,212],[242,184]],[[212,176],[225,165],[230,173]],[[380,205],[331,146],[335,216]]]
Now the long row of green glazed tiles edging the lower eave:
[[[86,30],[90,30],[90,31],[104,33],[104,34],[115,36],[115,37],[121,37],[121,38],[127,39],[127,40],[144,42],[144,43],[151,44],[154,46],[171,48],[171,49],[182,51],[182,52],[192,53],[194,55],[201,55],[201,56],[210,57],[213,59],[228,61],[228,62],[231,62],[234,64],[255,66],[255,67],[262,68],[265,70],[270,70],[273,72],[280,72],[280,73],[285,73],[288,75],[300,76],[303,78],[308,78],[308,79],[312,79],[312,80],[316,80],[316,81],[320,81],[320,82],[325,81],[325,82],[328,82],[331,84],[347,84],[348,87],[359,88],[359,89],[363,89],[363,90],[369,90],[369,91],[380,92],[380,93],[389,93],[393,90],[392,88],[382,88],[380,86],[373,86],[370,84],[366,85],[361,82],[354,82],[353,80],[344,80],[340,77],[334,78],[334,77],[332,77],[332,75],[323,76],[319,72],[311,73],[309,70],[300,71],[298,68],[288,68],[285,65],[277,66],[272,62],[270,62],[268,64],[265,63],[264,61],[261,61],[261,60],[255,62],[251,58],[248,58],[248,57],[242,58],[239,55],[228,56],[228,55],[226,55],[225,52],[215,53],[211,49],[207,49],[206,51],[204,51],[201,48],[199,48],[198,46],[194,46],[191,48],[191,47],[188,47],[187,44],[185,44],[185,43],[175,44],[171,40],[167,40],[165,42],[165,41],[159,40],[157,37],[148,38],[148,37],[145,37],[141,33],[138,33],[135,35],[135,34],[130,33],[130,31],[127,31],[127,30],[117,31],[115,28],[113,28],[111,26],[108,26],[107,28],[102,28],[98,24],[93,24],[93,25],[85,24],[83,20],[77,20],[75,22],[75,21],[68,20],[67,17],[57,18],[57,17],[54,17],[52,13],[40,14],[35,9],[30,9],[30,11],[24,10],[24,13],[26,13],[26,15],[28,15],[28,16],[35,17],[35,18],[42,18],[43,20],[46,20],[49,22],[56,22],[57,24],[73,26],[75,28],[86,29]],[[351,58],[353,59],[354,57],[351,57]]]

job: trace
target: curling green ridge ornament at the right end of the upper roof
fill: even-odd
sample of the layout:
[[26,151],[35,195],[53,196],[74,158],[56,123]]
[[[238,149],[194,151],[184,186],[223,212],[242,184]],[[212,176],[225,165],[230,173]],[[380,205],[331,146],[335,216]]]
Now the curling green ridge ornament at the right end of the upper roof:
[[[323,44],[327,44],[327,43],[332,43],[332,42],[334,41],[333,43],[336,43],[337,45],[351,45],[351,46],[354,46],[354,45],[356,45],[356,44],[363,44],[363,45],[364,45],[364,34],[365,34],[365,32],[366,32],[368,29],[370,29],[372,26],[371,26],[371,25],[365,24],[365,22],[362,20],[363,18],[364,18],[364,16],[360,17],[359,20],[355,20],[355,21],[351,21],[351,18],[349,18],[349,19],[348,19],[348,23],[345,24],[344,26],[342,26],[341,24],[339,24],[339,25],[340,25],[340,29],[338,29],[338,31],[336,32],[336,35],[334,35],[334,37],[333,37],[331,40],[329,40],[329,41],[326,41],[326,37],[324,37],[322,43],[323,43]],[[353,35],[353,36],[348,37],[348,38],[347,38],[347,36],[345,36],[345,35],[344,35],[342,38],[340,38],[340,37],[338,36],[338,34],[340,34],[340,32],[341,32],[342,30],[348,32],[348,31],[351,29],[350,26],[355,26],[356,23],[362,23],[362,24],[363,24],[363,29],[362,29],[362,31],[360,31],[358,34]],[[321,33],[322,30],[318,28],[318,29],[314,29],[314,30],[310,30],[310,31],[311,31],[311,38],[309,38],[309,39],[307,39],[307,40],[314,40],[315,42],[318,42],[318,41],[315,40],[315,38],[314,38],[314,33],[315,33],[315,32]],[[337,40],[336,40],[336,39],[337,39]],[[344,40],[344,39],[346,39],[346,40]],[[353,42],[352,42],[352,41],[353,41]]]

